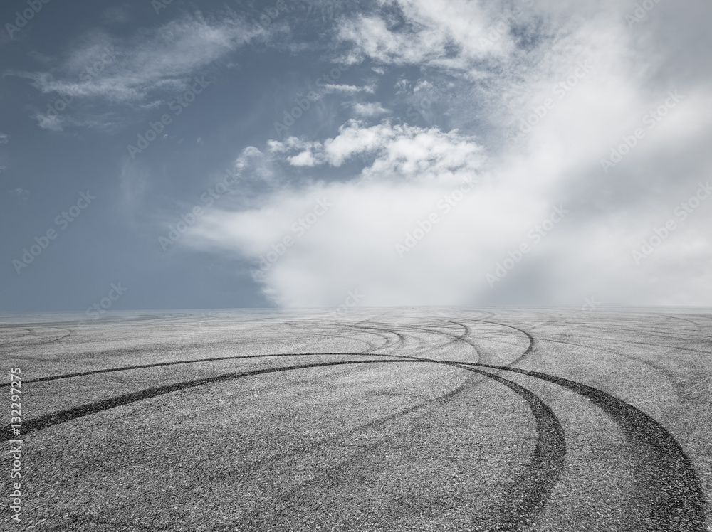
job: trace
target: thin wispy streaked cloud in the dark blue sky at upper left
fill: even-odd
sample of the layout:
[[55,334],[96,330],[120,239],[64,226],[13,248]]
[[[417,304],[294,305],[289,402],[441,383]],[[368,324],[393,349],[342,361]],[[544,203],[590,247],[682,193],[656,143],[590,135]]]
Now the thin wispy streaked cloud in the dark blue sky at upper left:
[[[259,26],[231,12],[220,18],[197,12],[126,38],[90,31],[78,38],[58,67],[5,75],[31,80],[43,95],[74,101],[75,106],[78,101],[92,105],[84,109],[86,114],[106,105],[124,106],[124,112],[127,105],[145,110],[166,94],[186,90],[195,75],[263,33]],[[57,118],[43,110],[36,119],[43,129],[94,125],[83,117],[68,120],[64,116],[68,114]]]

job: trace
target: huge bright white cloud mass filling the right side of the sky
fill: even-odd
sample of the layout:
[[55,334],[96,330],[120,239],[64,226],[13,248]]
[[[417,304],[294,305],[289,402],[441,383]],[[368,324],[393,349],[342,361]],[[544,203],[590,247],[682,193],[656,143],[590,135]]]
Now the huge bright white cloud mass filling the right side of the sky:
[[[519,14],[476,1],[382,4],[394,14],[342,20],[337,41],[379,65],[417,66],[422,78],[400,80],[392,97],[436,92],[438,124],[350,120],[329,138],[270,142],[286,169],[328,176],[215,209],[186,244],[247,260],[282,306],[337,305],[355,288],[375,305],[709,304],[712,203],[676,213],[712,178],[709,74],[673,67],[689,42],[654,39],[687,42],[675,30],[686,24],[705,35],[700,12],[661,3],[648,26],[629,28],[627,6],[609,1]],[[685,60],[706,64],[702,52]],[[476,186],[458,196],[468,177]],[[333,206],[298,235],[319,198]],[[568,212],[546,230],[554,208]],[[669,220],[676,228],[637,264],[633,251]],[[530,252],[515,260],[523,244]],[[268,253],[276,260],[263,262]],[[505,275],[489,282],[496,271]]]

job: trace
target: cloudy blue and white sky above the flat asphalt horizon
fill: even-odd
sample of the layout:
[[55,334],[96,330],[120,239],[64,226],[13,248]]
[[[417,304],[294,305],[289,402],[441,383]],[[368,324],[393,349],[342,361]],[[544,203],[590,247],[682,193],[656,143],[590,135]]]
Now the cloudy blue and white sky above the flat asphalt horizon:
[[711,17],[7,0],[0,312],[710,305]]

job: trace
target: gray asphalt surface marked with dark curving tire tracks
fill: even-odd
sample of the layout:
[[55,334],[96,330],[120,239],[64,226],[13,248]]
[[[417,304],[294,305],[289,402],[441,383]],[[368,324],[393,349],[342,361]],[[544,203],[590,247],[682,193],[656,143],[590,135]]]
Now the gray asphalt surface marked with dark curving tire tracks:
[[4,316],[0,349],[0,529],[712,530],[712,309]]

